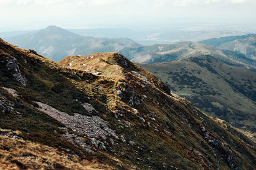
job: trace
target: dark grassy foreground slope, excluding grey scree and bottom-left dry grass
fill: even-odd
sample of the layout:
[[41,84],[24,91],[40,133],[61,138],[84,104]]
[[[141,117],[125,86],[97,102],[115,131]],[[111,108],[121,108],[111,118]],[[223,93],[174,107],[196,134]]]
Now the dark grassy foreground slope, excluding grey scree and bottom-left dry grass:
[[[255,167],[255,144],[250,139],[228,125],[223,128],[223,124],[205,116],[185,99],[164,93],[168,88],[156,76],[122,55],[99,53],[84,61],[86,63],[74,62],[74,68],[65,68],[2,40],[0,49],[3,61],[0,86],[17,90],[19,96],[13,97],[1,88],[0,95],[20,112],[20,115],[0,113],[0,127],[19,131],[19,136],[26,140],[60,151],[69,148],[80,159],[96,160],[112,168],[120,168],[120,165],[123,169],[134,166],[140,169]],[[17,59],[28,86],[14,81],[12,70],[6,71],[6,56]],[[67,65],[74,58],[68,57],[62,64]],[[83,64],[88,64],[86,68],[91,70],[84,72]],[[102,74],[91,74],[95,69]],[[122,98],[116,95],[118,89],[122,91]],[[61,138],[63,131],[59,127],[63,125],[33,106],[36,106],[33,101],[41,101],[70,115],[90,115],[76,100],[92,104],[99,111],[94,114],[115,129],[119,139],[112,145],[109,138],[106,139],[106,150],[95,149],[92,154],[68,143]]]

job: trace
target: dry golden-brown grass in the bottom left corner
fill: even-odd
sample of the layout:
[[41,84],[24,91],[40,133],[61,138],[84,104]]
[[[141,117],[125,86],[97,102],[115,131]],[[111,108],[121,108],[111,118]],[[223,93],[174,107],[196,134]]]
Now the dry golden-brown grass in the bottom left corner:
[[56,148],[0,136],[0,169],[111,169]]

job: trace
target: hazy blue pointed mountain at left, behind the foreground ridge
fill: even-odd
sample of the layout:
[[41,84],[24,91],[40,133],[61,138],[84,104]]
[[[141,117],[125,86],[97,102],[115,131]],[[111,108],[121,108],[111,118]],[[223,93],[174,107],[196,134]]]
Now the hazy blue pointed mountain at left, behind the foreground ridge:
[[62,60],[67,55],[118,52],[124,46],[136,44],[128,38],[107,39],[80,36],[56,26],[4,39],[21,48],[36,50],[56,61]]

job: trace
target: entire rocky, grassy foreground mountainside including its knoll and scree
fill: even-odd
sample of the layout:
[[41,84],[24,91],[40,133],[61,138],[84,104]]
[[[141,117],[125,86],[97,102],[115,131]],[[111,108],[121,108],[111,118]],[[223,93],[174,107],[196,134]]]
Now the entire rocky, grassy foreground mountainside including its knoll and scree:
[[60,63],[0,40],[3,169],[255,169],[255,143],[119,53]]

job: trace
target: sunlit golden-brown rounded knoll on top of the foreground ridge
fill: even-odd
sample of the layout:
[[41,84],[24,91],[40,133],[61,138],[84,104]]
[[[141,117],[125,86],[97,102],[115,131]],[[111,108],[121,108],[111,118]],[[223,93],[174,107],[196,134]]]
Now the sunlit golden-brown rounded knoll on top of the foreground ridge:
[[137,74],[143,81],[152,83],[157,89],[170,94],[170,89],[156,76],[133,64],[120,53],[94,53],[91,55],[74,55],[61,60],[61,65],[105,76],[116,81],[127,80],[127,74]]

